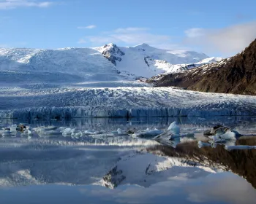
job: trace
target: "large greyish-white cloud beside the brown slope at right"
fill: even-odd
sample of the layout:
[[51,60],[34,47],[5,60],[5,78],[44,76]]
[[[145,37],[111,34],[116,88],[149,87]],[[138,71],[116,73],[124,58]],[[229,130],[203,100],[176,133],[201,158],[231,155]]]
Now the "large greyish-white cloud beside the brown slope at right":
[[201,47],[205,52],[234,55],[256,38],[256,21],[219,29],[191,28],[185,34],[185,44]]

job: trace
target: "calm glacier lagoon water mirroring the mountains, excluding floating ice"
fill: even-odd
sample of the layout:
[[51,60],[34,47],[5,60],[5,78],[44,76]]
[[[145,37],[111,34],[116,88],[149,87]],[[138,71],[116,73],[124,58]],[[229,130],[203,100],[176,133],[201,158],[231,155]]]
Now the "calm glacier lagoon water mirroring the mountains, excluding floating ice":
[[[132,138],[128,130],[181,127],[176,145]],[[1,203],[254,203],[256,149],[199,148],[203,130],[226,125],[244,137],[233,145],[256,145],[256,117],[94,118],[23,123],[31,134],[0,136]],[[79,137],[35,131],[65,127],[92,132]],[[119,130],[118,130],[119,128]],[[90,130],[90,131],[89,131]],[[118,133],[118,131],[121,133]]]

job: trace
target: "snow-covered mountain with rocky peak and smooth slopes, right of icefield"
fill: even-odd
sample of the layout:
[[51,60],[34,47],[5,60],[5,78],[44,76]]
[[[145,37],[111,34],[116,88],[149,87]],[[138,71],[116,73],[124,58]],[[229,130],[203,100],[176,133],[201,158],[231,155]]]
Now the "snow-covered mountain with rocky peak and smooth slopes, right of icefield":
[[[103,47],[94,47],[102,53],[121,73],[135,74],[135,76],[151,77],[157,74],[185,71],[188,65],[200,63],[200,60],[208,59],[202,63],[211,63],[215,58],[199,52],[184,50],[162,50],[139,44],[135,47],[118,47],[116,44],[105,44]],[[216,58],[217,60],[217,58]],[[192,65],[191,67],[195,67]]]

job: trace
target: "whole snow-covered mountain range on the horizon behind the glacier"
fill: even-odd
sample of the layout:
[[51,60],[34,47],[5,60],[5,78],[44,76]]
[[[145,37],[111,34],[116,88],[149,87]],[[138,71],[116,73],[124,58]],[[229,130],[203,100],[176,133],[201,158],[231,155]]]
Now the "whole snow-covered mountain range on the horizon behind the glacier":
[[[162,50],[148,44],[135,47],[105,44],[102,47],[56,50],[0,48],[0,73],[3,77],[8,76],[8,80],[12,78],[10,75],[15,75],[15,79],[23,76],[22,79],[26,80],[31,75],[39,82],[47,78],[59,81],[59,73],[64,81],[74,77],[78,81],[81,78],[89,81],[111,81],[176,73],[219,60],[221,58],[208,58],[199,52]],[[37,77],[38,74],[42,79]],[[54,77],[50,77],[50,74]],[[3,77],[0,77],[1,80],[5,79]],[[34,82],[34,79],[31,81]]]

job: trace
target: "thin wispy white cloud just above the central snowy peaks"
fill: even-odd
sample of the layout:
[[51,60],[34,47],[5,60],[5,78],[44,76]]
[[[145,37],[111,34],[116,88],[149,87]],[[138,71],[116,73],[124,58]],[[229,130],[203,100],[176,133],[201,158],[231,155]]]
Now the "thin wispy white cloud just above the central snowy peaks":
[[171,40],[171,36],[168,35],[152,34],[150,28],[129,27],[117,28],[97,36],[85,36],[79,42],[90,42],[92,46],[111,42],[124,45],[147,43],[154,47],[174,49],[176,45]]

